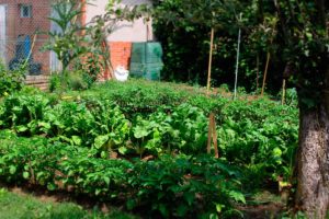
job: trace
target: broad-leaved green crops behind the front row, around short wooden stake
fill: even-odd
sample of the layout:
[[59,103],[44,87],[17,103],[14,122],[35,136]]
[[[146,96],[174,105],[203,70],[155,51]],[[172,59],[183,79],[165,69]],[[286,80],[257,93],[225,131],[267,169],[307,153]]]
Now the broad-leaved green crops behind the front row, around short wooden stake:
[[0,128],[90,149],[105,160],[157,159],[205,153],[207,114],[215,112],[219,155],[241,168],[245,188],[291,178],[298,138],[294,107],[169,88],[137,80],[60,95],[20,92],[1,101]]

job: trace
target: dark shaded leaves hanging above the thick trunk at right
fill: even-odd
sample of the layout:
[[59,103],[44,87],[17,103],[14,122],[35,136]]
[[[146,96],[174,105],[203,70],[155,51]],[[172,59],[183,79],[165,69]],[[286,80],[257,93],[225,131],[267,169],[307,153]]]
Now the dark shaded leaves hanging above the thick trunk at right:
[[282,28],[280,35],[284,38],[277,46],[282,48],[286,70],[295,72],[290,73],[298,85],[299,106],[316,108],[327,99],[324,93],[328,87],[329,5],[324,1],[300,1],[277,2],[275,8]]

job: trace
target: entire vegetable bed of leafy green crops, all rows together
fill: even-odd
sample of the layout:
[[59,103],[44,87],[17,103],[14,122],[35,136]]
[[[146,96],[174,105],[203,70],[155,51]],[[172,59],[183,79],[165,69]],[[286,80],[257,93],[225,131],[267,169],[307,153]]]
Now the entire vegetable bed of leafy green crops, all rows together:
[[[206,150],[209,112],[218,159]],[[269,99],[110,81],[7,95],[0,128],[3,182],[83,194],[141,217],[239,218],[250,194],[292,183],[298,112]]]

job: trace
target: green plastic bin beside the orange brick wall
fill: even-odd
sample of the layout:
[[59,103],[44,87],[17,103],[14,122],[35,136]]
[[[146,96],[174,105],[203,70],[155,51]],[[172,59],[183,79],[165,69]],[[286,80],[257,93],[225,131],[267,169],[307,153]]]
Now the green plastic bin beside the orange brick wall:
[[162,47],[160,43],[133,43],[131,74],[148,80],[160,80],[162,70]]

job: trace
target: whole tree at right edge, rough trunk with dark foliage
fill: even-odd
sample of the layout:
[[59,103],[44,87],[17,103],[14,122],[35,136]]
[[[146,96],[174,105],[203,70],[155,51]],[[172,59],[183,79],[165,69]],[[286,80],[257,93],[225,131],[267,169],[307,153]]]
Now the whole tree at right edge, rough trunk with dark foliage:
[[[262,1],[261,1],[262,2]],[[299,103],[295,207],[307,218],[329,210],[329,1],[266,2],[277,14],[275,46],[292,77]]]

